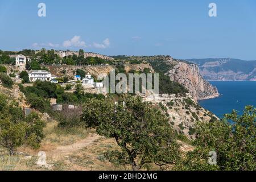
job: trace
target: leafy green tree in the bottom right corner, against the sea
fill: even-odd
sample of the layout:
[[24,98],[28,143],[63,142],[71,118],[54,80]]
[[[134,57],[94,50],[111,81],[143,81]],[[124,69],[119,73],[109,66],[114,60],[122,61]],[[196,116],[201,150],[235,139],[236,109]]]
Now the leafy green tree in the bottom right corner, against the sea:
[[[189,152],[179,169],[185,170],[256,170],[256,109],[246,106],[221,121],[199,123],[195,150]],[[209,152],[217,154],[217,165],[208,163]]]

